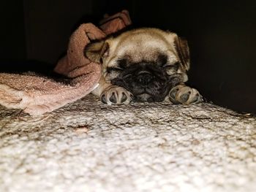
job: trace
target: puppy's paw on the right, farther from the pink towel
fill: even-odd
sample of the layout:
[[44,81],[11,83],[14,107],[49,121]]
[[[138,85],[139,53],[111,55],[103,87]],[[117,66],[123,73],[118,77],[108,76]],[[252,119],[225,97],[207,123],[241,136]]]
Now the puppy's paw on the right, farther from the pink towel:
[[177,85],[169,92],[169,99],[173,104],[200,103],[203,97],[195,88],[186,85]]

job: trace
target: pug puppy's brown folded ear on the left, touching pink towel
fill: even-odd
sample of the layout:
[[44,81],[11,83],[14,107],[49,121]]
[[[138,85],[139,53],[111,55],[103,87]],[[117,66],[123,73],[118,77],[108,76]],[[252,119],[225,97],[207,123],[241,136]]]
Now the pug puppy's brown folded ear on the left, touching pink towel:
[[109,44],[106,41],[92,42],[84,49],[84,55],[91,61],[102,64],[103,58],[108,57]]

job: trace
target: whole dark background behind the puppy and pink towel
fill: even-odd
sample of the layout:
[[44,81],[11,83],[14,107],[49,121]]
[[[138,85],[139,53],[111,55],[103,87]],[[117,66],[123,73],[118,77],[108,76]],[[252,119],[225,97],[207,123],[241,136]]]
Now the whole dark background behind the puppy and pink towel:
[[208,101],[256,113],[256,1],[1,1],[2,70],[52,68],[83,22],[128,9],[135,27],[186,37],[189,84]]

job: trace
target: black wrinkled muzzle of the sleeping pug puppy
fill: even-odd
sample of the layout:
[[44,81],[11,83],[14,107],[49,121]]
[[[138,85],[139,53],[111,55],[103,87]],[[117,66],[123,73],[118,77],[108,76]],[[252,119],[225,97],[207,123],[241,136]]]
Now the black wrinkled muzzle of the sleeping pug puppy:
[[170,91],[170,78],[164,69],[154,64],[135,64],[112,80],[113,85],[126,88],[135,101],[163,101]]

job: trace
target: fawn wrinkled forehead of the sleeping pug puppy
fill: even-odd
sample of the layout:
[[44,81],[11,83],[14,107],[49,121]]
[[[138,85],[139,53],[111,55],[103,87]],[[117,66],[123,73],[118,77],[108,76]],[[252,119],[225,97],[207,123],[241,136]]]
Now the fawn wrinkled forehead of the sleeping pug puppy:
[[159,55],[167,55],[168,60],[176,59],[174,47],[164,37],[139,34],[119,39],[113,52],[118,58],[129,58],[130,62],[157,61]]

